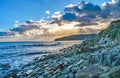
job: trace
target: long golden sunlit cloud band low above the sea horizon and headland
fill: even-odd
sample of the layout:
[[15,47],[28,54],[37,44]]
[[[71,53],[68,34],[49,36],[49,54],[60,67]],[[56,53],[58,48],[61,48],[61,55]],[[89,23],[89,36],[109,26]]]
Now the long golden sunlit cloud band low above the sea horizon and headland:
[[[79,22],[63,23],[61,26],[58,24],[51,24],[45,20],[40,21],[26,21],[19,24],[18,27],[10,29],[6,32],[0,32],[0,40],[54,40],[59,37],[75,35],[75,34],[90,34],[98,33],[99,27],[95,26],[76,26]],[[90,23],[89,23],[90,24]],[[98,25],[99,26],[99,25]],[[101,27],[101,26],[100,26]]]

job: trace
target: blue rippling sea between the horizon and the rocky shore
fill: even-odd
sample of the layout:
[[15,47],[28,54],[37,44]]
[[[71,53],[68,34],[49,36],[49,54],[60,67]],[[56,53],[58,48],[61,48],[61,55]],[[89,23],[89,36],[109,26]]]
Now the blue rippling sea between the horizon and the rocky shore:
[[37,57],[57,53],[60,49],[80,43],[81,41],[0,42],[0,77]]

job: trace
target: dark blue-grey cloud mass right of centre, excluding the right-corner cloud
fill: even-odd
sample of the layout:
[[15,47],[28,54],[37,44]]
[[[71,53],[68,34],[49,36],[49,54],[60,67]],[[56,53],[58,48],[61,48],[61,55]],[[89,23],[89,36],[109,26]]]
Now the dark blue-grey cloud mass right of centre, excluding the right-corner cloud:
[[64,12],[61,21],[87,21],[87,19],[90,21],[101,16],[102,9],[98,5],[82,1],[78,5],[66,6]]

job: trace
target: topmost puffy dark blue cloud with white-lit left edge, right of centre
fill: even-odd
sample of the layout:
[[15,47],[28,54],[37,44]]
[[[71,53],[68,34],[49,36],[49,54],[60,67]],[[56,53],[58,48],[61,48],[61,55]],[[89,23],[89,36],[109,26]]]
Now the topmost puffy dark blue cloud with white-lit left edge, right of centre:
[[64,9],[65,12],[72,12],[75,14],[81,14],[81,13],[87,13],[87,12],[100,12],[101,11],[101,7],[98,5],[94,5],[92,3],[89,2],[85,2],[82,1],[80,4],[78,5],[68,5],[67,7],[65,6]]

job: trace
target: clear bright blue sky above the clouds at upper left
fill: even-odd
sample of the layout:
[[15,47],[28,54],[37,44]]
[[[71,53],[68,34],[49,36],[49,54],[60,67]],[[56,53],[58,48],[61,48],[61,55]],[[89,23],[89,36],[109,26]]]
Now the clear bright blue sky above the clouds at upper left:
[[[68,4],[77,4],[82,0],[0,0],[0,31],[14,27],[16,21],[48,20],[56,11],[64,11]],[[84,0],[101,5],[111,0]]]

